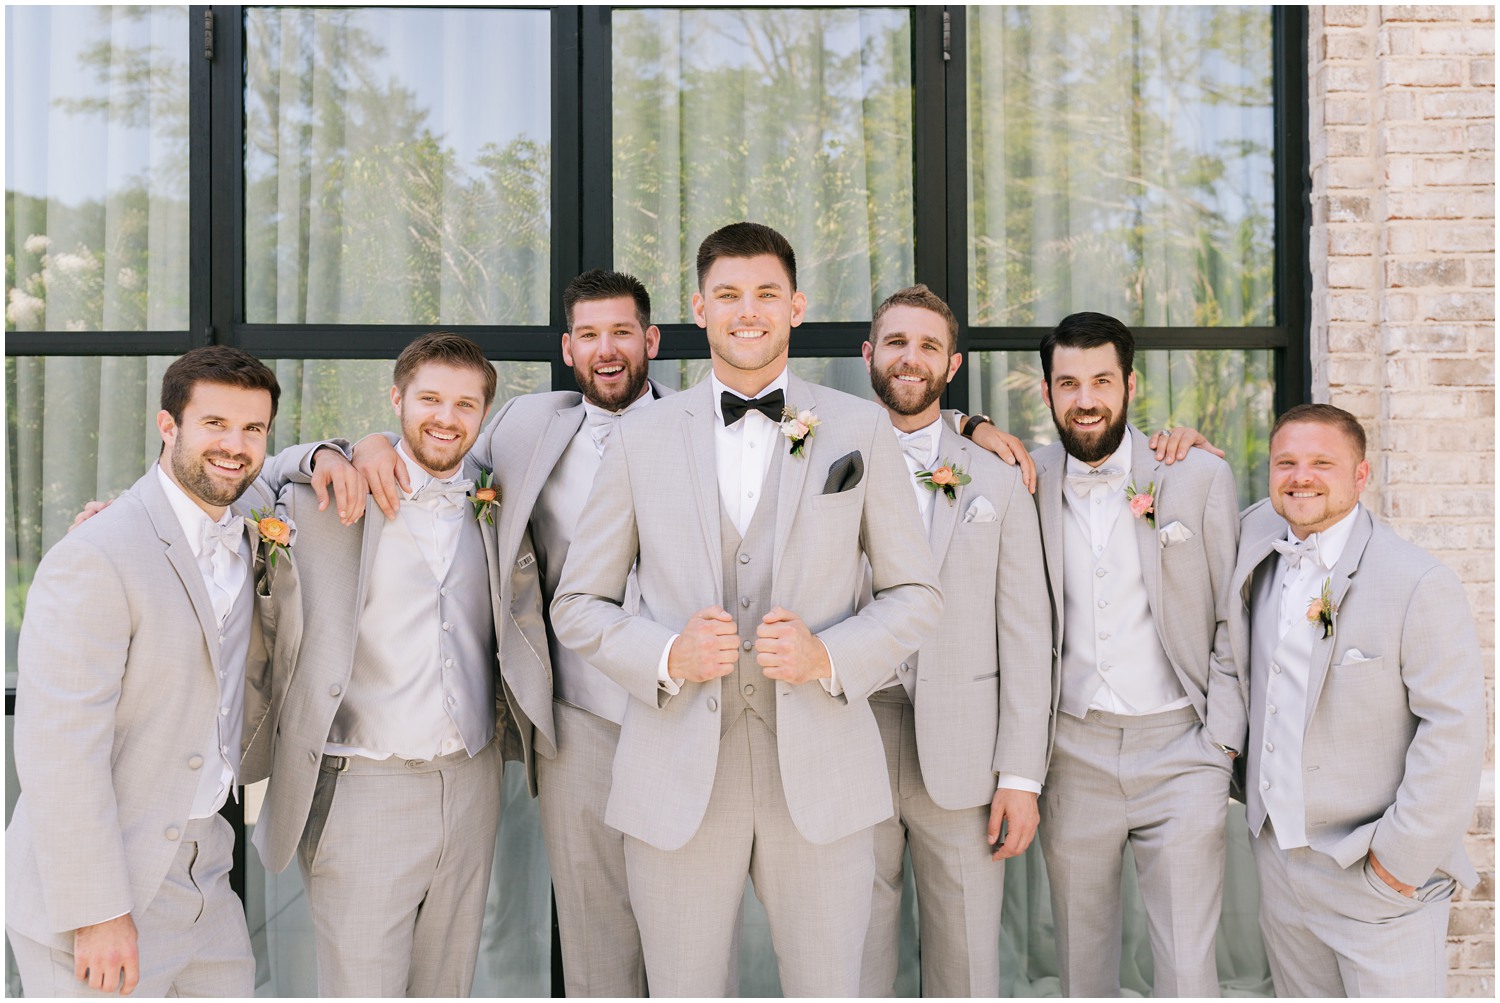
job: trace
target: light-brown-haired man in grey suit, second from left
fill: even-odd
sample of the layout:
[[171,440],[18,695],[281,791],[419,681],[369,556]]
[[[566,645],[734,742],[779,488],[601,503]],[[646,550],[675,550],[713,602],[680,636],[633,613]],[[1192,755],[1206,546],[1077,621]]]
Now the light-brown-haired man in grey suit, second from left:
[[[494,588],[495,502],[466,457],[495,382],[454,334],[418,337],[396,360],[414,489],[396,519],[345,525],[351,513],[321,510],[306,475],[282,489],[298,523],[300,645],[255,844],[272,871],[297,856],[321,996],[468,994],[501,741],[518,738],[528,762],[555,747],[544,672],[496,679],[496,634],[525,649],[526,633],[510,630]],[[344,462],[320,453],[320,478]]]

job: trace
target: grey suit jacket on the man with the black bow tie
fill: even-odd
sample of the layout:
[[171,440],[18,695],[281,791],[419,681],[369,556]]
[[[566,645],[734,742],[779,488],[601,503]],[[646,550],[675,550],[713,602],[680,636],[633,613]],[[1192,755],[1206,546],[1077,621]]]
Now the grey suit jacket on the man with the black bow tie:
[[[814,408],[822,424],[802,456],[780,457],[771,598],[828,646],[843,694],[777,684],[777,754],[794,825],[813,843],[831,843],[891,814],[866,699],[902,652],[921,645],[942,597],[885,412],[795,375],[786,397]],[[722,681],[684,684],[674,697],[657,685],[670,637],[698,610],[723,603],[717,420],[705,379],[621,421],[552,603],[558,640],[633,697],[604,820],[664,850],[698,831],[718,757]],[[862,457],[864,477],[825,495],[830,466],[850,453]],[[855,615],[861,553],[876,598]],[[640,586],[634,616],[621,609],[632,565]]]

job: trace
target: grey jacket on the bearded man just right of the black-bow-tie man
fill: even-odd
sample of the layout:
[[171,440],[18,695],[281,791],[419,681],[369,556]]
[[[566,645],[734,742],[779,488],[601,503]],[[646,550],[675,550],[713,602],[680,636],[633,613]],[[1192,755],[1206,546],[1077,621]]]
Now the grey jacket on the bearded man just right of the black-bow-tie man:
[[[998,774],[1047,772],[1052,609],[1042,588],[1036,508],[1020,472],[944,423],[939,463],[972,478],[933,498],[942,621],[897,672],[916,717],[927,793],[942,808],[987,805]],[[904,663],[903,663],[904,667]]]

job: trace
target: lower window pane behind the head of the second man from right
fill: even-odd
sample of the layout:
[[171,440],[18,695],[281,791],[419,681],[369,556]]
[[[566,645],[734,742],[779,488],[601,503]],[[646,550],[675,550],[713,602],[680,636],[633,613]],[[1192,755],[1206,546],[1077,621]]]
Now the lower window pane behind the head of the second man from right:
[[[975,411],[1028,447],[1056,442],[1036,352],[970,352],[964,372]],[[1186,424],[1224,450],[1244,508],[1266,496],[1274,390],[1270,351],[1138,351],[1130,414],[1148,435]]]

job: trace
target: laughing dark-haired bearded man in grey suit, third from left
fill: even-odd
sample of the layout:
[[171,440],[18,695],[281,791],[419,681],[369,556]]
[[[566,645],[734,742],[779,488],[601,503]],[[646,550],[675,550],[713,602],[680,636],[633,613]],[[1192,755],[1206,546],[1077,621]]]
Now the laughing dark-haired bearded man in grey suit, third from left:
[[[534,555],[546,604],[556,592],[578,526],[588,517],[584,502],[610,433],[627,412],[672,393],[646,379],[646,363],[656,358],[662,336],[651,324],[651,297],[638,279],[602,268],[585,271],[564,289],[562,310],[568,324],[562,360],[573,367],[582,393],[512,397],[470,451],[482,466],[494,469],[501,492],[496,564],[506,568]],[[356,465],[388,514],[399,505],[405,477],[394,460],[394,450],[381,435],[354,448]],[[525,597],[518,600],[510,585],[507,577],[501,604],[518,609]],[[538,759],[536,790],[567,994],[645,996],[624,837],[604,825],[609,765],[628,696],[562,648],[550,624],[540,655],[550,667],[540,682],[550,685],[555,697],[556,756]],[[506,669],[514,672],[513,664]]]

